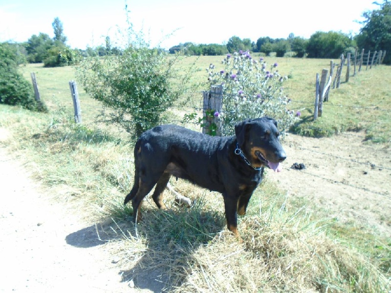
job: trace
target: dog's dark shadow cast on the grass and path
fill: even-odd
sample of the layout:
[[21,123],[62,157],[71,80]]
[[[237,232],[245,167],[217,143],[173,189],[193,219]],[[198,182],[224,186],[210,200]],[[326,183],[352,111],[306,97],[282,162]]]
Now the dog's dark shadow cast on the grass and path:
[[152,292],[167,292],[180,286],[191,272],[194,251],[225,227],[223,214],[192,209],[147,210],[143,221],[137,224],[137,232],[128,219],[111,224],[110,219],[70,233],[66,243],[89,248],[123,240],[121,259],[129,269],[118,272],[122,282],[132,281],[135,288]]

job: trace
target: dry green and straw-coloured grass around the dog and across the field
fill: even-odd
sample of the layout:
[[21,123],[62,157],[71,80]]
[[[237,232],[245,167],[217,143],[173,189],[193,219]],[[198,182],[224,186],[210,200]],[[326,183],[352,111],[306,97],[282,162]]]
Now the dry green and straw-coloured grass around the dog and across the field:
[[[198,59],[194,81],[206,79],[205,68],[210,63],[218,68],[221,58]],[[292,109],[302,112],[295,131],[332,135],[365,129],[369,143],[390,143],[390,66],[363,70],[331,90],[323,117],[314,123],[315,76],[328,68],[329,60],[266,60],[277,62],[280,72],[291,77],[284,88]],[[194,61],[191,57],[186,62]],[[113,253],[129,267],[124,281],[159,272],[170,292],[377,293],[390,289],[391,239],[341,226],[321,211],[307,214],[304,207],[311,203],[288,199],[267,176],[252,197],[248,214],[239,218],[243,242],[225,229],[221,195],[181,180],[173,182],[175,189],[195,205],[178,207],[167,196],[169,209],[160,211],[147,199],[145,220],[135,230],[131,208],[122,205],[133,181],[128,135],[96,123],[101,105],[81,88],[83,125],[73,123],[68,82],[75,79],[74,68],[29,64],[21,71],[27,79],[30,72],[36,73],[49,113],[0,105],[0,127],[12,134],[7,146],[34,169],[45,187],[58,192],[59,201],[102,223],[101,230],[116,243]],[[197,105],[201,96],[193,100]],[[368,246],[368,241],[376,245]]]

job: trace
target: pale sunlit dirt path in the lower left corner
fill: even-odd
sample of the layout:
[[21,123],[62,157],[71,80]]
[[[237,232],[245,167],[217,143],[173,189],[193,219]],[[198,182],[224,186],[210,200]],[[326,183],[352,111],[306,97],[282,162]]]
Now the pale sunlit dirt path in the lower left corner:
[[0,183],[0,292],[131,292],[93,225],[39,192],[1,144]]

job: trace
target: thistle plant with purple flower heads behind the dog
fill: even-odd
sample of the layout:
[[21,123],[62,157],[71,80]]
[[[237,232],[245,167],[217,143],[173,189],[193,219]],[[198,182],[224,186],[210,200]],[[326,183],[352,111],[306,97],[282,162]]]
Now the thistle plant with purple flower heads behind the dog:
[[235,124],[246,118],[269,116],[274,118],[284,134],[298,119],[288,109],[290,99],[283,93],[282,76],[277,63],[268,65],[260,58],[254,60],[250,53],[235,52],[222,60],[222,69],[214,64],[207,68],[209,85],[223,86],[221,134],[233,135]]

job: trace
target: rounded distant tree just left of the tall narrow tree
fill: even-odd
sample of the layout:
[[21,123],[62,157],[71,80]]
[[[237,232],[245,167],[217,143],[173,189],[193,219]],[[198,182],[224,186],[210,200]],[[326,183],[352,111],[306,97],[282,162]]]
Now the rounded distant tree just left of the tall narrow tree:
[[42,63],[47,57],[47,51],[54,46],[53,40],[47,34],[32,35],[26,44],[27,60],[30,63]]

